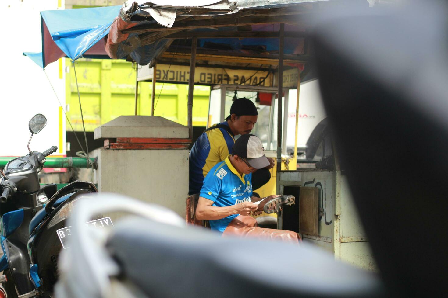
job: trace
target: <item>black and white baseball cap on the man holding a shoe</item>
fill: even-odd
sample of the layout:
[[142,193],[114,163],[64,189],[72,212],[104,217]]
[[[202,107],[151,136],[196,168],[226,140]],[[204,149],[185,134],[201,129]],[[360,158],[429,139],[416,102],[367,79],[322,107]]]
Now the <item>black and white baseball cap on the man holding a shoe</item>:
[[233,144],[233,154],[244,159],[256,169],[266,168],[269,164],[264,155],[263,143],[253,134],[243,134]]

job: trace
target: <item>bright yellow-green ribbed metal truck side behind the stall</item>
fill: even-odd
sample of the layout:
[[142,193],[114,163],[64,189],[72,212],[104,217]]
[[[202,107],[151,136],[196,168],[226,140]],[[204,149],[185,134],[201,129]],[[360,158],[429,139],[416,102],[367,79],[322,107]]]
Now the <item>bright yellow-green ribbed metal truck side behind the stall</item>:
[[[73,64],[69,59],[66,63],[67,114],[74,130],[82,131]],[[134,115],[135,69],[132,63],[125,60],[78,59],[75,67],[87,131],[93,131],[118,116]],[[187,95],[187,85],[156,84],[154,114],[187,125]],[[207,125],[209,96],[210,87],[194,86],[194,126]],[[138,83],[137,113],[151,114],[150,82]]]

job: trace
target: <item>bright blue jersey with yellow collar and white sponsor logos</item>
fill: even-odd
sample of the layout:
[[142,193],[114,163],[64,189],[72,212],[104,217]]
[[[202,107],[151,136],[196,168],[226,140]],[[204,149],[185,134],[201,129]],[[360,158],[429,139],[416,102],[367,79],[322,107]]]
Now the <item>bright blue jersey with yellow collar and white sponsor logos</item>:
[[[213,206],[218,207],[250,202],[252,197],[252,173],[240,175],[227,157],[223,162],[211,168],[204,179],[200,196],[213,201]],[[232,214],[221,219],[209,220],[210,228],[222,233],[233,218],[238,215]]]

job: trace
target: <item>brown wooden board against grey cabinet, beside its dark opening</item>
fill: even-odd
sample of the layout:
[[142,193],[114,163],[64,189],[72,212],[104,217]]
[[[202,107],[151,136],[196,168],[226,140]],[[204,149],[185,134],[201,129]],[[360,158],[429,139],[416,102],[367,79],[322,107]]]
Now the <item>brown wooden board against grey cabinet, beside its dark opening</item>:
[[319,189],[301,187],[299,196],[299,231],[306,235],[319,236]]

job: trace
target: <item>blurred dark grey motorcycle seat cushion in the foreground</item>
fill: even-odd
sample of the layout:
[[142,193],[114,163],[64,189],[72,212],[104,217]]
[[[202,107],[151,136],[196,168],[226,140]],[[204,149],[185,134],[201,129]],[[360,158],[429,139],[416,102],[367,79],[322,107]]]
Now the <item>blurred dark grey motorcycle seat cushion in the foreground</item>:
[[386,296],[376,274],[308,243],[222,238],[142,218],[123,219],[112,233],[107,248],[121,276],[148,297]]

